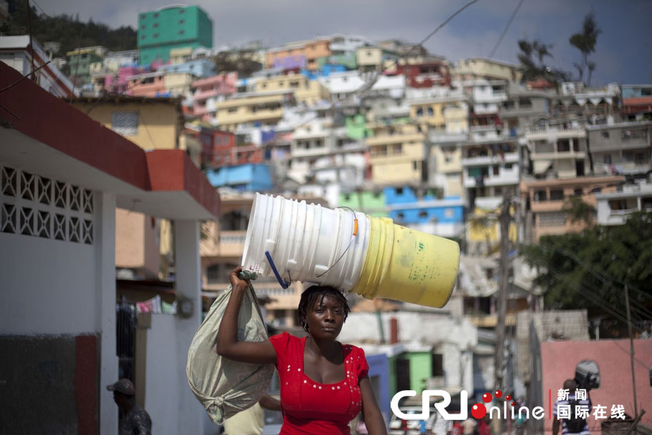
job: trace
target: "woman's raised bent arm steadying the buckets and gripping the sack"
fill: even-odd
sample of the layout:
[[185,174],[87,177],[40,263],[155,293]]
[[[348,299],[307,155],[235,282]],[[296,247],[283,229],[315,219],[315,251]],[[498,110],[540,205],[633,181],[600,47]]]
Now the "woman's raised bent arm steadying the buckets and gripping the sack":
[[238,342],[237,341],[237,315],[240,313],[240,304],[244,293],[249,291],[249,283],[241,280],[242,267],[238,266],[229,275],[231,281],[231,297],[226,304],[220,329],[218,330],[218,355],[240,361],[255,364],[275,364],[276,350],[269,340],[264,342]]

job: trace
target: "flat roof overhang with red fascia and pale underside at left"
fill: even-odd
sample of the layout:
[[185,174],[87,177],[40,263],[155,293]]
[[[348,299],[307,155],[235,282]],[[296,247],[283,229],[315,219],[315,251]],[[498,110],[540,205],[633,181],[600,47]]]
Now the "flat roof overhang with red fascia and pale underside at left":
[[[0,161],[115,194],[118,207],[212,220],[220,197],[184,150],[145,151],[0,63]],[[6,88],[6,89],[5,89]],[[123,98],[123,97],[121,97]],[[112,100],[112,98],[107,98]]]

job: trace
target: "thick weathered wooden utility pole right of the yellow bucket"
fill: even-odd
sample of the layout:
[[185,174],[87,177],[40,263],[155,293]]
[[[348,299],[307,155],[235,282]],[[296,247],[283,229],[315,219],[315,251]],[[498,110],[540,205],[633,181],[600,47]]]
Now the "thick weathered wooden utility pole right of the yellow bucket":
[[496,368],[494,370],[494,387],[502,390],[504,382],[504,344],[505,315],[507,315],[507,285],[509,278],[509,223],[511,201],[507,191],[503,194],[498,223],[500,223],[500,277],[498,280],[498,324],[496,324]]

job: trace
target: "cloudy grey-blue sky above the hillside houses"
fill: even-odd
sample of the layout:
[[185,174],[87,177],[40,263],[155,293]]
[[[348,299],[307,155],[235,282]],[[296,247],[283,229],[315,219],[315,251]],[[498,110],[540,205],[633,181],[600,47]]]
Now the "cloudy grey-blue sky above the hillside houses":
[[[174,1],[174,0],[172,0]],[[195,0],[213,20],[213,46],[260,40],[267,47],[335,33],[372,41],[417,43],[469,0]],[[478,0],[424,45],[448,60],[489,56],[519,0]],[[49,15],[136,28],[139,12],[170,5],[160,0],[36,0]],[[524,0],[493,58],[517,64],[517,41],[553,44],[551,67],[572,71],[580,52],[568,43],[593,12],[601,28],[592,60],[592,85],[652,83],[652,0]]]

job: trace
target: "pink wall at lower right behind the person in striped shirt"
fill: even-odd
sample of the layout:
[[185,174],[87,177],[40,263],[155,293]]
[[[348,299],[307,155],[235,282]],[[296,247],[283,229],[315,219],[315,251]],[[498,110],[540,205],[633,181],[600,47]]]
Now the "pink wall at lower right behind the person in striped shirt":
[[[636,375],[636,397],[638,410],[647,410],[642,423],[652,424],[652,339],[634,340],[634,370]],[[592,405],[607,406],[607,419],[612,405],[624,405],[625,413],[633,416],[633,392],[631,385],[631,363],[629,339],[604,339],[587,342],[543,342],[541,344],[542,403],[544,404],[544,432],[552,433],[550,405],[555,405],[557,390],[563,381],[574,377],[575,367],[580,361],[592,360],[600,370],[600,388],[590,391]],[[550,395],[550,396],[549,396]],[[601,423],[605,420],[587,419],[591,435],[601,434]]]

